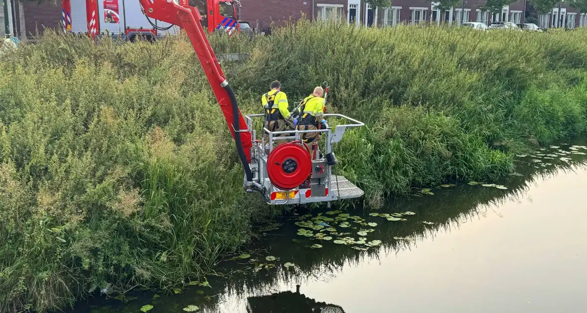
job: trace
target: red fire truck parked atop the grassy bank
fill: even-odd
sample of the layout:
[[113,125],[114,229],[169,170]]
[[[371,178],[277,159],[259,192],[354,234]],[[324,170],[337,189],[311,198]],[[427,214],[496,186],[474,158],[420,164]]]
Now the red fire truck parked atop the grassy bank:
[[[197,8],[201,25],[208,33],[232,35],[239,31],[241,4],[238,0],[170,0],[174,4]],[[151,19],[137,0],[62,0],[62,23],[66,32],[85,33],[92,38],[104,33],[134,41],[137,36],[149,40],[179,32],[170,23]]]

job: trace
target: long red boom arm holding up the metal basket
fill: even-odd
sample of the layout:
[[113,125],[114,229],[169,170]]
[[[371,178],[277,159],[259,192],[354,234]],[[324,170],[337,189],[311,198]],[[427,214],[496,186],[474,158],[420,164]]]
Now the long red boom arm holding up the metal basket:
[[[212,47],[210,46],[210,42],[208,42],[208,39],[205,36],[204,29],[200,24],[202,19],[200,13],[196,8],[177,5],[172,0],[139,1],[143,7],[144,13],[149,16],[149,18],[180,26],[185,32],[187,32],[191,44],[194,46],[195,53],[198,56],[198,60],[200,60],[200,64],[204,69],[206,77],[208,77],[210,86],[212,86],[212,91],[214,91],[218,104],[220,104],[222,113],[224,113],[224,118],[228,123],[228,129],[231,131],[232,138],[234,138],[235,141],[238,139],[240,140],[242,150],[244,151],[239,151],[239,154],[244,153],[244,156],[241,155],[241,161],[243,162],[243,166],[245,166],[245,172],[248,170],[247,174],[249,174],[251,171],[248,166],[248,162],[251,160],[251,133],[246,131],[247,123],[245,123],[244,118],[242,118],[241,111],[237,109],[238,117],[235,118],[234,116],[235,110],[233,110],[233,106],[237,106],[236,99],[234,98],[232,89],[228,87],[228,82],[220,68],[220,63],[218,63],[218,60],[212,51]],[[238,130],[245,131],[235,132],[234,124],[238,124]],[[239,148],[238,146],[239,142],[237,141],[237,148]],[[250,179],[247,180],[250,181]]]

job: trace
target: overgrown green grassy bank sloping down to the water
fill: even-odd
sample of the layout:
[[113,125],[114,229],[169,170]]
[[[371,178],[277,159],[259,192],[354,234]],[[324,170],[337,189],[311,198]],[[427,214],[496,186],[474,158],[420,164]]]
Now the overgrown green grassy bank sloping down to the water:
[[[367,127],[339,171],[379,206],[446,179],[491,180],[512,152],[585,131],[587,32],[310,25],[211,38],[245,113],[274,79],[328,81],[328,109]],[[242,169],[185,38],[47,34],[0,61],[0,311],[201,280],[272,212]],[[293,102],[293,101],[292,101]]]

